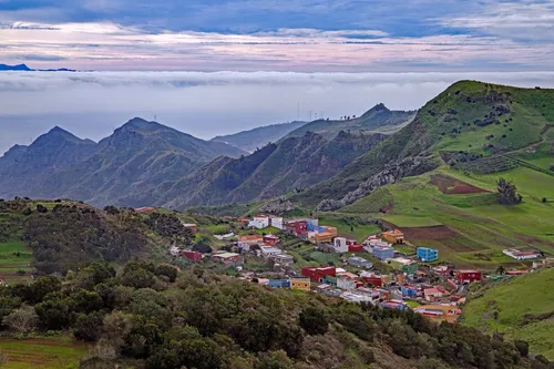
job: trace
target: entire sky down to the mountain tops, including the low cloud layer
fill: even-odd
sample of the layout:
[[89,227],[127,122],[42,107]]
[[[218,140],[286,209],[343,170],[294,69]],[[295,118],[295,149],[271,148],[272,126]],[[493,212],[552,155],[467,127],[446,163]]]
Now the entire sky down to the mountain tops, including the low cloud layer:
[[461,79],[554,86],[553,40],[554,0],[0,0],[0,63],[80,71],[0,72],[0,154],[54,125],[209,139]]

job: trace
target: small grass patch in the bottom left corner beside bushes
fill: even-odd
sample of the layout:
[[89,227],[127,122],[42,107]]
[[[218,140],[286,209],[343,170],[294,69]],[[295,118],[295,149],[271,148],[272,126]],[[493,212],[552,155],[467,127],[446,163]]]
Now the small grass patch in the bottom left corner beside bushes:
[[76,369],[86,355],[86,345],[68,337],[2,338],[0,351],[8,357],[2,369]]

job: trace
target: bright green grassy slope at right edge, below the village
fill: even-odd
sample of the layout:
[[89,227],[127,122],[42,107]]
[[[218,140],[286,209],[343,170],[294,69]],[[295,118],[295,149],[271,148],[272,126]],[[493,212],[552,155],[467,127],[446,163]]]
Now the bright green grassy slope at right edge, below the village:
[[[525,314],[554,311],[554,268],[514,278],[486,290],[463,308],[463,324],[488,332],[505,332],[507,337],[531,344],[531,350],[554,359],[554,319],[522,325]],[[488,311],[499,311],[493,319]]]

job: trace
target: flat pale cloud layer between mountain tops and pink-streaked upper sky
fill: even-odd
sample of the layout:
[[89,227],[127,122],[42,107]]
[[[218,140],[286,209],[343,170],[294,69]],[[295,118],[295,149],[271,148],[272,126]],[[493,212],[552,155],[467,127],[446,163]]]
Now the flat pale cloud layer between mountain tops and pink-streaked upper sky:
[[310,111],[332,119],[377,103],[416,110],[459,80],[554,88],[554,72],[0,72],[0,153],[54,125],[98,141],[134,116],[211,139],[306,121]]

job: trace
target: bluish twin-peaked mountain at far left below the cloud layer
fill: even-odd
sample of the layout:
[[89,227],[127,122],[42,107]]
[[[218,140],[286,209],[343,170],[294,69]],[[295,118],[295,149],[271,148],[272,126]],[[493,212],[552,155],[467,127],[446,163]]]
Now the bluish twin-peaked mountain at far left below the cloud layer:
[[98,144],[53,127],[0,157],[0,195],[107,204],[141,185],[177,178],[217,156],[246,152],[133,119]]

